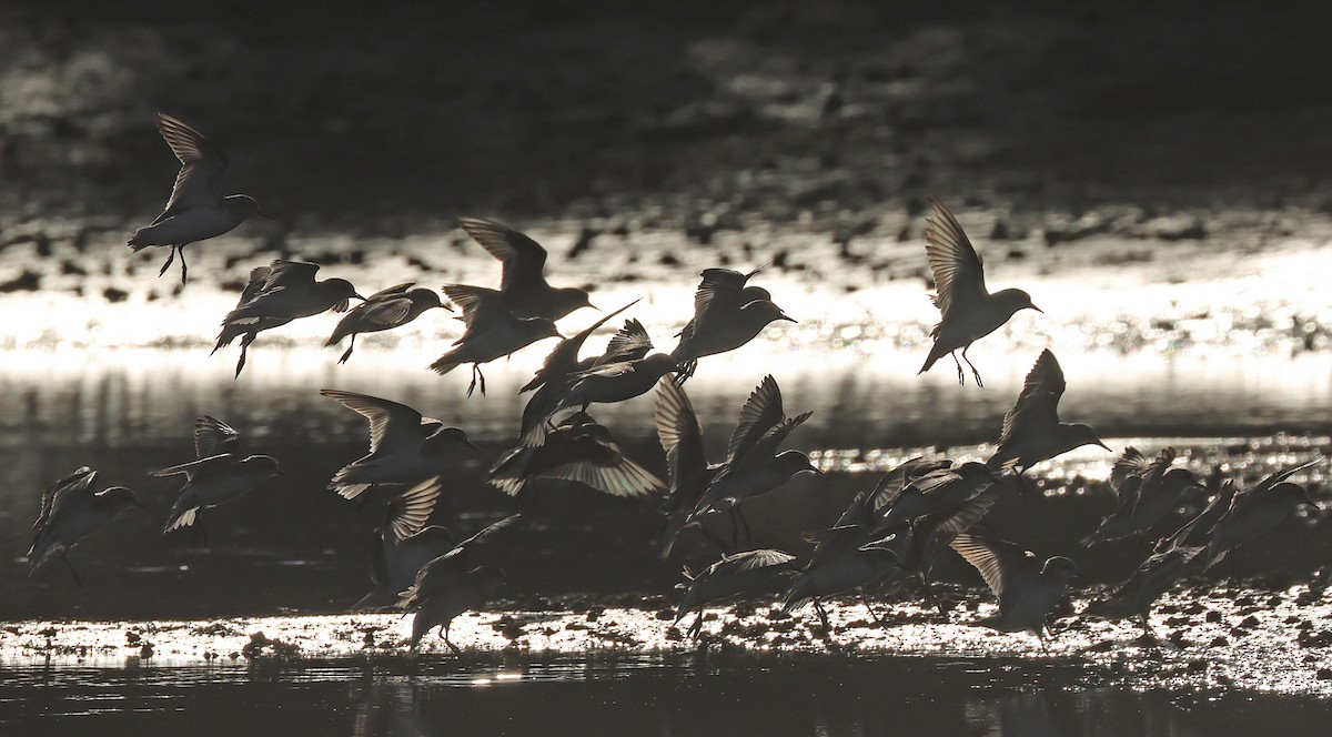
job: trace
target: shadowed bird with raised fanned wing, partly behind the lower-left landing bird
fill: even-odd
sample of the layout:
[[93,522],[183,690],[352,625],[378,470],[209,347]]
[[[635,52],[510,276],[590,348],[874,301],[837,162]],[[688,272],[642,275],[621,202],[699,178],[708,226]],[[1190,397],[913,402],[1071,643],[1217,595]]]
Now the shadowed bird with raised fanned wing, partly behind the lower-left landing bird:
[[393,606],[398,592],[416,581],[421,566],[448,553],[457,538],[448,528],[426,526],[444,480],[426,478],[389,501],[384,524],[370,541],[370,578],[374,590],[352,605],[352,610]]

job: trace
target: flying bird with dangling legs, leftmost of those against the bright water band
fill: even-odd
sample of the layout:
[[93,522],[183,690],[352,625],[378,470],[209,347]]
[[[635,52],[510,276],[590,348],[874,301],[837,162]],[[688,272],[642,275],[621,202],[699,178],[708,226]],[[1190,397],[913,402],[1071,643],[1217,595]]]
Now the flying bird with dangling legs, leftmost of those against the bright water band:
[[250,272],[236,309],[222,319],[222,331],[213,345],[213,353],[217,353],[237,337],[241,339],[241,356],[236,361],[237,377],[245,368],[249,345],[258,333],[325,311],[346,312],[353,299],[365,300],[345,279],[314,281],[318,271],[318,264],[274,259],[268,267],[256,267]]

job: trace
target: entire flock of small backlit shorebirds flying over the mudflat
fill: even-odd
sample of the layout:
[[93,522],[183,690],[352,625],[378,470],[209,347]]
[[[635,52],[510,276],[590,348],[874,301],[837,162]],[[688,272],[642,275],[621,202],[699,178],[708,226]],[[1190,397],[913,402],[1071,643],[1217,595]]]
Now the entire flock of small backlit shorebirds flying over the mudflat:
[[[161,216],[136,231],[129,245],[135,251],[170,248],[159,276],[178,253],[185,280],[186,245],[226,233],[248,217],[264,213],[252,197],[222,196],[220,177],[226,157],[216,144],[174,117],[160,115],[157,124],[181,169]],[[982,386],[980,372],[967,359],[967,348],[1018,311],[1038,308],[1019,289],[990,293],[982,261],[962,227],[943,204],[932,199],[931,204],[924,231],[926,256],[942,320],[931,333],[934,343],[920,373],[950,355],[958,381],[966,384],[962,367],[966,361],[975,384]],[[705,606],[773,590],[785,592],[786,610],[813,602],[825,632],[831,628],[822,601],[838,594],[860,592],[874,614],[870,593],[911,585],[918,586],[926,601],[938,605],[931,592],[931,572],[947,549],[975,566],[999,601],[995,616],[971,624],[1044,637],[1051,613],[1078,573],[1076,565],[1063,556],[1040,561],[1002,540],[983,520],[1000,496],[1026,493],[1026,472],[1035,464],[1083,445],[1110,450],[1092,428],[1059,420],[1066,382],[1052,352],[1046,349],[1036,359],[1004,416],[996,450],[987,461],[912,458],[856,494],[832,526],[809,532],[811,552],[746,549],[750,529],[743,502],[775,492],[797,474],[821,473],[806,453],[782,449],[810,413],[789,414],[771,376],[745,401],[726,457],[717,462],[705,454],[702,429],[685,392],[701,359],[741,348],[771,323],[791,320],[766,289],[750,284],[758,271],[703,271],[693,319],[677,335],[678,343],[670,353],[653,352],[653,340],[643,325],[626,320],[603,352],[582,357],[587,339],[633,303],[563,337],[555,321],[590,308],[587,293],[547,284],[546,251],[523,233],[481,219],[462,219],[460,224],[501,261],[502,280],[498,289],[444,287],[444,295],[462,311],[465,331],[430,369],[444,374],[470,364],[468,396],[476,388],[485,393],[482,364],[542,339],[559,339],[521,389],[531,392],[531,398],[519,420],[517,445],[490,466],[488,482],[510,496],[545,478],[573,481],[619,497],[649,497],[665,490],[661,557],[670,557],[679,536],[690,529],[699,530],[722,553],[697,576],[685,569],[687,582],[681,584],[685,593],[675,622],[697,613],[689,628],[695,638],[702,632]],[[438,293],[416,288],[414,283],[361,297],[346,280],[317,280],[317,271],[316,264],[277,260],[250,273],[236,309],[222,320],[214,348],[216,352],[240,339],[237,377],[256,337],[293,320],[326,311],[345,312],[328,340],[328,345],[337,345],[350,339],[340,359],[344,363],[360,333],[405,325],[429,309],[453,309]],[[361,304],[349,311],[352,300]],[[654,392],[657,430],[667,461],[665,482],[626,457],[611,432],[589,414],[594,404],[627,401],[649,392]],[[438,628],[444,642],[458,652],[449,640],[450,622],[484,605],[507,581],[503,570],[477,564],[478,549],[515,528],[519,514],[465,540],[457,540],[444,526],[430,525],[436,501],[460,456],[478,452],[468,434],[386,398],[338,389],[324,389],[321,394],[364,416],[370,429],[369,453],[338,470],[329,488],[358,504],[370,490],[390,492],[384,494],[388,500],[382,524],[374,533],[376,588],[354,609],[414,613],[413,650],[430,629]],[[242,457],[240,434],[214,417],[196,421],[193,440],[194,458],[155,470],[152,476],[185,477],[164,533],[192,526],[196,534],[206,537],[202,526],[206,510],[245,496],[282,472],[269,456]],[[1090,549],[1139,537],[1155,540],[1155,546],[1127,581],[1090,604],[1083,616],[1136,617],[1151,637],[1152,604],[1181,576],[1216,565],[1301,508],[1317,510],[1308,492],[1289,478],[1321,458],[1280,470],[1247,489],[1227,480],[1201,512],[1169,529],[1184,494],[1201,488],[1189,470],[1173,465],[1176,460],[1171,449],[1147,457],[1128,448],[1115,461],[1111,485],[1119,506],[1083,544]],[[77,580],[67,558],[69,549],[120,512],[143,508],[124,486],[95,492],[96,476],[97,472],[84,466],[43,493],[28,550],[32,573],[59,557]],[[940,614],[946,616],[942,606]]]

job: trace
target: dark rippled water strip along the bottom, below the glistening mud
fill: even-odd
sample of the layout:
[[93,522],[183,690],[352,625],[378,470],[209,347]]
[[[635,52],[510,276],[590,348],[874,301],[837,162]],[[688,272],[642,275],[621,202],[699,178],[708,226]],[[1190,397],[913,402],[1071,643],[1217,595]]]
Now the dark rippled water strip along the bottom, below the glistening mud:
[[5,669],[8,734],[1319,734],[1332,704],[1139,693],[1042,661],[594,656]]

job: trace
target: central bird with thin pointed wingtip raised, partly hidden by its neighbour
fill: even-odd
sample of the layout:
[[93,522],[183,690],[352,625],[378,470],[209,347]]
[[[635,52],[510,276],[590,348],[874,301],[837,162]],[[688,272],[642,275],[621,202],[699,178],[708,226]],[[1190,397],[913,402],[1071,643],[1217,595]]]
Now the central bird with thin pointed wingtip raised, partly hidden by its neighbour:
[[518,426],[518,437],[523,445],[541,445],[545,441],[546,418],[555,412],[559,398],[577,381],[574,377],[575,373],[601,364],[633,361],[647,355],[647,351],[651,351],[653,341],[647,337],[642,324],[637,320],[626,320],[625,327],[615,333],[602,355],[589,356],[582,360],[578,359],[578,352],[582,351],[583,343],[587,341],[597,328],[601,328],[611,317],[638,304],[638,301],[634,300],[578,333],[561,340],[550,355],[546,356],[545,363],[537,369],[531,381],[527,381],[527,384],[518,389],[519,394],[533,392],[531,398],[527,400],[526,406],[522,409],[522,421]]

